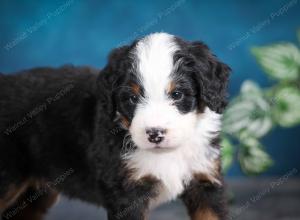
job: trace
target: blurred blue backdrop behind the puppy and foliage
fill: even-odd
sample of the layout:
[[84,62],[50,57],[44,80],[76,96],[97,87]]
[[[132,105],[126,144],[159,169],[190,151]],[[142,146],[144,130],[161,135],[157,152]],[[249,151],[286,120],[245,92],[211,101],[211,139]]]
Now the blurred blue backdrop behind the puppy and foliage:
[[[205,41],[232,67],[230,94],[234,96],[245,79],[261,86],[272,83],[249,48],[280,41],[297,43],[299,27],[298,0],[2,0],[0,72],[66,63],[102,67],[112,48],[165,31]],[[299,127],[276,129],[264,138],[275,160],[265,175],[300,168],[299,134]],[[239,167],[235,165],[229,175],[241,175]]]

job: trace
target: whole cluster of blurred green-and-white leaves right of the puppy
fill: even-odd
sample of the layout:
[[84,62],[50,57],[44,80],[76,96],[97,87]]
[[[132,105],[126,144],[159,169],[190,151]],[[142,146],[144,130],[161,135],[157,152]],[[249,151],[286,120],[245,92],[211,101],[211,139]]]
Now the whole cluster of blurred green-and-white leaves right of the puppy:
[[[297,35],[300,42],[300,30]],[[254,47],[251,52],[276,84],[270,88],[250,80],[242,84],[240,94],[224,113],[221,146],[224,171],[237,152],[243,172],[257,175],[273,164],[259,139],[276,126],[300,124],[300,50],[294,44],[279,43]]]

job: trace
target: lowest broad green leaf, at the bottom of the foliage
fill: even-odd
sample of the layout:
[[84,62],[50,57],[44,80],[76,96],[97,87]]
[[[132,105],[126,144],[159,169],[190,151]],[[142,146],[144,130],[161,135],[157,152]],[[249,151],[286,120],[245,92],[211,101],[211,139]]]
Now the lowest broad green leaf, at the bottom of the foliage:
[[262,145],[252,137],[243,139],[238,158],[243,172],[247,175],[260,174],[273,164]]

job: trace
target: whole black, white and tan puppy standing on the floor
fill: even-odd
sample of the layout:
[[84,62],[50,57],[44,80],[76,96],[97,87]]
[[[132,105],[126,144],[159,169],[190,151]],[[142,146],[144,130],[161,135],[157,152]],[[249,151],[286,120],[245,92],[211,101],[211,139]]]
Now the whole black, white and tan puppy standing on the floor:
[[181,198],[226,219],[219,132],[230,68],[201,42],[155,33],[101,71],[0,74],[0,212],[42,219],[58,193],[144,220]]

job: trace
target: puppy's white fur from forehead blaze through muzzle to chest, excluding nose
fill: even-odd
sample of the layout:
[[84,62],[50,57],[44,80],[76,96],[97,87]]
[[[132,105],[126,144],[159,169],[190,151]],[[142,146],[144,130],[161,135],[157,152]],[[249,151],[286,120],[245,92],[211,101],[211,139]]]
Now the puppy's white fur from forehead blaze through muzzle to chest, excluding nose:
[[[176,68],[173,55],[178,49],[173,36],[158,33],[141,40],[134,52],[145,98],[138,104],[129,129],[138,149],[125,159],[127,166],[136,170],[136,180],[152,175],[162,182],[160,196],[152,206],[175,199],[195,173],[218,181],[214,172],[219,150],[210,146],[210,140],[220,129],[221,116],[208,108],[203,114],[182,114],[167,94]],[[159,144],[162,150],[154,149],[157,145],[148,141],[148,127],[167,129]]]

